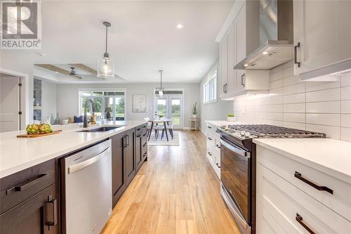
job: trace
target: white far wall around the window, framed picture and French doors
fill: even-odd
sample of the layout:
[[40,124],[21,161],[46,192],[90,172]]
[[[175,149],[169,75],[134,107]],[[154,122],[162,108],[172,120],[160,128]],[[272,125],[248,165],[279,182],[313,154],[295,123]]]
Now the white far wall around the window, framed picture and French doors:
[[[57,84],[57,111],[60,118],[78,115],[79,89],[126,89],[126,119],[140,120],[144,117],[153,118],[154,88],[159,84]],[[190,127],[192,104],[199,103],[199,84],[163,84],[168,89],[184,89],[184,126]],[[147,112],[132,112],[133,94],[147,94]]]

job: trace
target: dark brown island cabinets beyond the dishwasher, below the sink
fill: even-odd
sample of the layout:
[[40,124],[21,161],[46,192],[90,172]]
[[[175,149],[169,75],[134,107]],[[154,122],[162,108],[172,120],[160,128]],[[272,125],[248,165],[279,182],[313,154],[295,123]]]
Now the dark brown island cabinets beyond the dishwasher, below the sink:
[[114,206],[147,158],[147,124],[114,135],[111,139]]

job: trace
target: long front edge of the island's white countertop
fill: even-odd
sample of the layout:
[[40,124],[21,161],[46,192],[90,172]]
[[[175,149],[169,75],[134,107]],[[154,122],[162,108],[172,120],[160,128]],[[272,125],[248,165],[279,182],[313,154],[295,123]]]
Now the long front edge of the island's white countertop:
[[[25,162],[23,164],[18,164],[18,165],[15,165],[14,167],[10,167],[10,168],[1,170],[0,171],[0,179],[4,178],[6,176],[11,176],[12,174],[15,174],[15,173],[17,173],[19,171],[22,171],[24,169],[28,169],[30,167],[34,167],[34,166],[36,166],[38,164],[41,164],[43,162],[47,162],[48,160],[53,160],[53,159],[61,157],[63,155],[67,155],[70,152],[74,152],[76,150],[80,150],[82,148],[86,148],[88,145],[93,145],[94,143],[98,143],[100,141],[103,141],[104,139],[110,138],[111,136],[114,136],[116,134],[120,134],[120,133],[122,133],[124,131],[128,131],[129,129],[133,129],[136,126],[140,126],[140,125],[145,124],[145,123],[147,123],[147,122],[140,121],[140,123],[138,123],[138,124],[130,124],[130,125],[127,124],[127,125],[122,126],[123,129],[121,128],[121,129],[116,129],[116,130],[111,131],[111,132],[106,132],[106,135],[100,136],[100,137],[95,138],[95,139],[93,139],[91,141],[86,141],[84,143],[75,145],[74,147],[67,148],[67,149],[61,150],[59,152],[54,152],[53,154],[45,155],[45,156],[40,157],[38,159],[34,159],[32,161]],[[104,126],[104,125],[102,124],[101,126]],[[112,126],[112,125],[106,125],[106,126]],[[96,127],[98,127],[98,126],[93,126],[93,127],[90,127],[89,129],[94,129]],[[81,129],[69,130],[69,131],[77,131],[77,130],[81,130]]]

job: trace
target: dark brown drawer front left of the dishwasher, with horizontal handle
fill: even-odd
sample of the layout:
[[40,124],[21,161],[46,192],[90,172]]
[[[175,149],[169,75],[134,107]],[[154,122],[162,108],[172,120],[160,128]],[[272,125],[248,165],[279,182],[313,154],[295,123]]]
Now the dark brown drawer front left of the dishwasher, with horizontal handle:
[[0,214],[55,183],[55,160],[18,171],[0,180]]

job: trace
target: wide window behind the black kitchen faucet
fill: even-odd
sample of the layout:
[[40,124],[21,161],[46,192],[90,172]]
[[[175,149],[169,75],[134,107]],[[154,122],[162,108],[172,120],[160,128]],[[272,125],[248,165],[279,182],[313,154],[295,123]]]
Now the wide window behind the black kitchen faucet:
[[[125,91],[79,91],[79,115],[84,114],[84,104],[90,99],[95,105],[97,119],[125,120]],[[91,105],[86,105],[86,115],[91,115]]]

